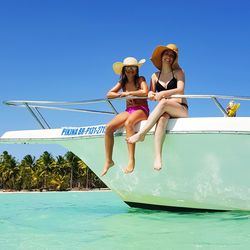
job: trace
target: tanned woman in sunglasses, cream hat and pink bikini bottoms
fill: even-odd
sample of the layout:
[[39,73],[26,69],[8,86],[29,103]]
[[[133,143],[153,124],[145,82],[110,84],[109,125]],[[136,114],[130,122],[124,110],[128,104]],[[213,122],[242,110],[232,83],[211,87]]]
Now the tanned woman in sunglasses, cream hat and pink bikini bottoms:
[[[120,81],[107,93],[107,98],[117,98],[126,96],[145,96],[148,95],[148,86],[143,76],[139,76],[139,67],[145,59],[139,62],[133,57],[127,57],[123,62],[113,64],[113,70],[120,75]],[[105,153],[106,161],[101,173],[105,175],[110,167],[115,163],[112,159],[114,146],[114,132],[125,126],[126,135],[134,135],[134,126],[142,120],[146,120],[149,115],[148,103],[146,99],[128,99],[126,110],[115,116],[106,126],[105,130]],[[129,161],[124,173],[131,173],[135,166],[135,144],[128,143]]]

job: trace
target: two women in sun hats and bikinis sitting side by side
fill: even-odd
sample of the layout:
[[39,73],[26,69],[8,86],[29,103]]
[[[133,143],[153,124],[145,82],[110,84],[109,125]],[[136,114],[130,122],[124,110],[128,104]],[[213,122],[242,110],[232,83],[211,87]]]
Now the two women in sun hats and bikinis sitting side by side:
[[[105,131],[106,161],[101,176],[105,175],[109,168],[115,164],[112,160],[113,134],[118,128],[125,126],[126,129],[129,162],[124,173],[131,173],[135,167],[135,143],[143,141],[146,133],[156,124],[154,169],[160,170],[162,168],[162,146],[169,118],[188,116],[188,105],[185,99],[168,99],[172,95],[184,94],[185,75],[178,64],[177,46],[168,44],[156,47],[151,61],[159,71],[151,77],[149,92],[145,78],[139,76],[139,67],[145,62],[145,59],[138,62],[133,57],[127,57],[123,62],[113,64],[113,69],[116,74],[120,75],[120,80],[108,92],[108,98],[147,96],[150,100],[158,101],[158,104],[149,115],[146,99],[127,99],[126,110],[107,124]],[[122,92],[119,92],[120,90]],[[146,119],[147,122],[135,134],[135,124]]]

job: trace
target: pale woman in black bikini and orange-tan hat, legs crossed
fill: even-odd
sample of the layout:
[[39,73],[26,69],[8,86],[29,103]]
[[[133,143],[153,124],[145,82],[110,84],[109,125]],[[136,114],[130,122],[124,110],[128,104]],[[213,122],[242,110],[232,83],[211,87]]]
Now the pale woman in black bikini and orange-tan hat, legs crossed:
[[155,160],[154,169],[162,167],[162,145],[166,127],[170,117],[180,118],[188,116],[186,99],[172,98],[172,95],[183,95],[185,74],[178,64],[178,48],[175,44],[158,46],[151,57],[151,61],[160,71],[151,77],[148,98],[159,101],[148,117],[146,124],[135,135],[129,137],[129,143],[143,141],[146,133],[156,124],[155,128]]

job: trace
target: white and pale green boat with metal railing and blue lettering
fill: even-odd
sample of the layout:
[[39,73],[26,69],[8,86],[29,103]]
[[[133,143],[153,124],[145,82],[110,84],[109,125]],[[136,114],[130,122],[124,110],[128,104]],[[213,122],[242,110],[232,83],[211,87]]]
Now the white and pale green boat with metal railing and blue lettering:
[[[250,100],[250,97],[176,95],[173,98],[211,99],[221,117],[170,119],[163,145],[164,167],[153,170],[154,128],[136,145],[136,167],[124,174],[127,145],[123,129],[115,133],[115,166],[100,177],[104,164],[105,124],[50,128],[41,113],[53,109],[97,114],[117,114],[111,99],[81,102],[6,101],[25,107],[39,130],[5,132],[0,143],[59,144],[79,156],[96,175],[131,207],[160,210],[250,210],[250,117],[228,117],[219,100]],[[69,105],[106,103],[111,111],[69,108]],[[67,107],[65,107],[67,106]],[[136,130],[143,126],[138,123]]]

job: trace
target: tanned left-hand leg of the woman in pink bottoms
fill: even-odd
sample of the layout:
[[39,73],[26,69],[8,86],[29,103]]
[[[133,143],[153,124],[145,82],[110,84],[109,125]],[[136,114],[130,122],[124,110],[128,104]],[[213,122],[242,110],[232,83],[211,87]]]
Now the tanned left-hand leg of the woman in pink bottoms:
[[105,129],[105,155],[106,160],[104,163],[103,170],[101,172],[101,176],[104,176],[109,168],[114,165],[114,161],[112,159],[113,155],[113,146],[114,146],[114,132],[121,128],[126,119],[128,118],[129,114],[127,112],[122,112],[118,114],[114,119],[112,119],[107,125]]

